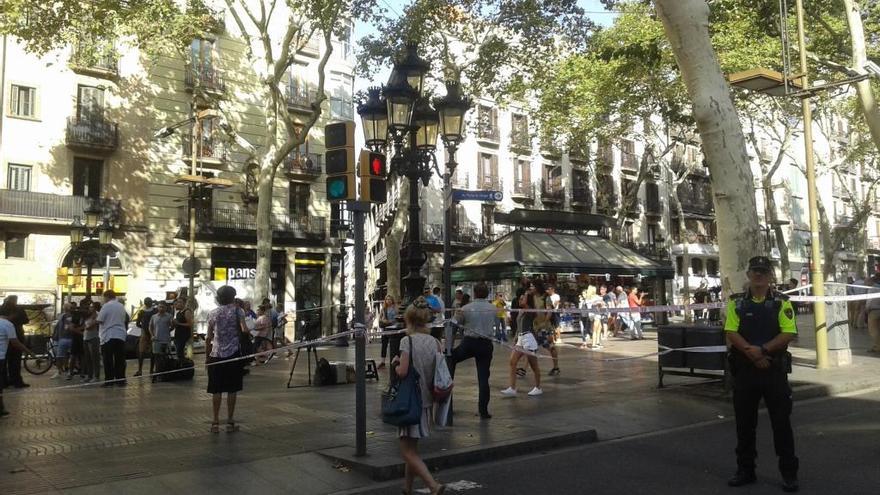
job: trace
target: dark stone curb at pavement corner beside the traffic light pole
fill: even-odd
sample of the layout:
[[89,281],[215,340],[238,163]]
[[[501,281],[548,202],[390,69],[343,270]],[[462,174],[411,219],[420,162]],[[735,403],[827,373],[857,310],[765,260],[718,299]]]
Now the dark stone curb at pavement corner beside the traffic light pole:
[[[594,443],[598,440],[596,430],[560,431],[535,435],[515,440],[493,443],[487,446],[474,446],[449,449],[425,454],[422,460],[430,470],[449,469],[478,462],[497,461],[539,450],[558,449]],[[351,446],[319,450],[317,453],[333,461],[351,467],[369,476],[373,481],[388,481],[403,477],[404,464],[398,455],[367,454],[355,457]]]

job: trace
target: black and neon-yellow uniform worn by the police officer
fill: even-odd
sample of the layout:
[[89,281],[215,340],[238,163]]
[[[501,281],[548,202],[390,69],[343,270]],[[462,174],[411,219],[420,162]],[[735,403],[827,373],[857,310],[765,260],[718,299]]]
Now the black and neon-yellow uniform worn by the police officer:
[[[769,266],[769,260],[767,265]],[[750,292],[734,294],[727,303],[724,330],[736,332],[749,344],[763,348],[764,344],[780,333],[797,334],[794,308],[788,296],[772,289],[763,299],[752,296]],[[732,348],[730,352],[731,371],[734,376],[733,407],[736,413],[738,476],[742,475],[754,481],[757,457],[755,431],[758,424],[758,403],[763,397],[773,428],[773,443],[776,455],[779,457],[779,470],[784,479],[796,480],[798,458],[794,454],[791,387],[788,384],[790,355],[785,350],[768,354],[765,349],[765,355],[770,359],[770,367],[759,369],[738,349]],[[733,480],[731,484],[733,485]],[[794,490],[796,489],[794,487]]]

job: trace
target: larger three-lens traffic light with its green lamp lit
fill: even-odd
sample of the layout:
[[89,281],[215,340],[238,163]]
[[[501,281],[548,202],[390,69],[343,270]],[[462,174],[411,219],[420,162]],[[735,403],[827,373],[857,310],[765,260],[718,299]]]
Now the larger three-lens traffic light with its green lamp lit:
[[357,199],[354,161],[354,121],[324,126],[324,163],[327,173],[327,199],[331,202]]

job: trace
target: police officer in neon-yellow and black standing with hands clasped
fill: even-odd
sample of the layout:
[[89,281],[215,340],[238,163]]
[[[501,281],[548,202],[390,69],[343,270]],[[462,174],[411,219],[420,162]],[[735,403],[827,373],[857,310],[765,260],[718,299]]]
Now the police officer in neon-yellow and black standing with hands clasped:
[[797,335],[794,308],[786,295],[770,287],[772,268],[766,256],[750,259],[746,275],[748,289],[730,298],[724,323],[731,346],[737,437],[737,471],[727,484],[742,486],[756,481],[755,429],[758,403],[763,397],[779,456],[782,489],[796,492],[798,458],[794,455],[791,388],[787,375],[791,366],[788,343]]

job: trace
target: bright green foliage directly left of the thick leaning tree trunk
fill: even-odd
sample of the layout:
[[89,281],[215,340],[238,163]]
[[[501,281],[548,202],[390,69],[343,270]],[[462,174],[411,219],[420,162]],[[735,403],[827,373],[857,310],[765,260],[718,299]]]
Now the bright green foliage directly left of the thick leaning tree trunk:
[[642,2],[619,2],[611,27],[597,30],[586,49],[558,61],[523,96],[539,102],[545,137],[570,143],[631,134],[651,115],[687,124],[687,93],[663,25]]

